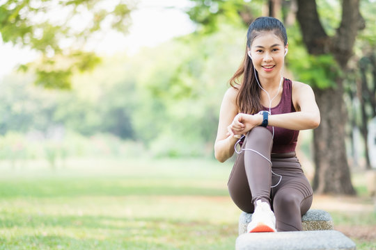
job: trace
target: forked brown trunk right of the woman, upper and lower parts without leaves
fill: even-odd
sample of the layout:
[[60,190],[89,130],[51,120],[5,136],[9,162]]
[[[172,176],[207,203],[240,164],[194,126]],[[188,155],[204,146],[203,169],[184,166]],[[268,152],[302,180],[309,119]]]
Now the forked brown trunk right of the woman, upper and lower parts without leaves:
[[[342,18],[335,35],[327,35],[320,22],[315,0],[297,0],[297,20],[308,53],[332,55],[342,69],[352,56],[355,39],[365,22],[359,11],[359,0],[342,2]],[[314,131],[315,177],[313,188],[320,193],[355,194],[345,150],[345,109],[343,76],[331,78],[334,84],[318,88],[315,94],[322,122]]]

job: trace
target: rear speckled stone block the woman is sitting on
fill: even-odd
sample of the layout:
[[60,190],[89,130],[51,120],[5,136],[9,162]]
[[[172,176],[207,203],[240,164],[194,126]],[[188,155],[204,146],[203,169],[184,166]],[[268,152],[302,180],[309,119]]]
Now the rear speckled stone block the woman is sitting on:
[[[251,222],[252,214],[244,213],[239,218],[239,235],[246,233],[246,226]],[[324,210],[311,209],[301,217],[304,231],[332,230],[334,228],[333,219]]]

